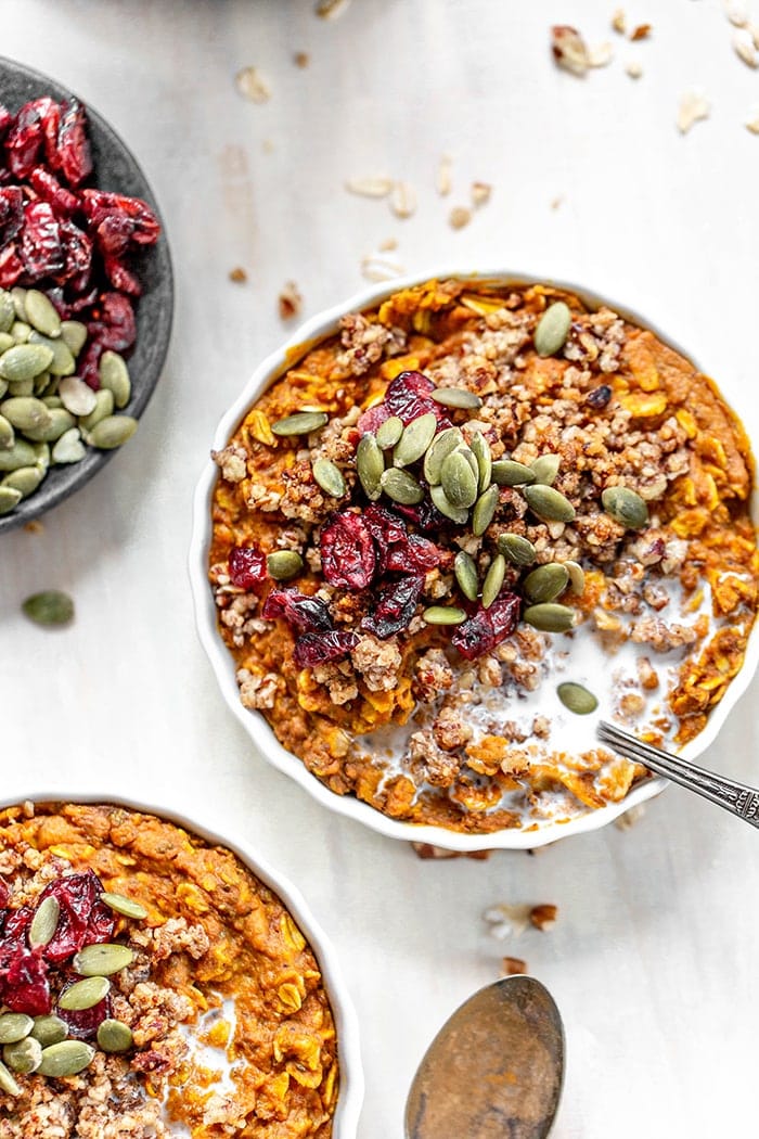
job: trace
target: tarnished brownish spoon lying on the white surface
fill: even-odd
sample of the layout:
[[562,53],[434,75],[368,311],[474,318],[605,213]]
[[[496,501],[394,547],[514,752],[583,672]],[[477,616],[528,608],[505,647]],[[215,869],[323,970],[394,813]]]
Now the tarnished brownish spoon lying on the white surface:
[[545,1139],[564,1073],[564,1033],[534,977],[486,985],[456,1009],[406,1100],[406,1139]]

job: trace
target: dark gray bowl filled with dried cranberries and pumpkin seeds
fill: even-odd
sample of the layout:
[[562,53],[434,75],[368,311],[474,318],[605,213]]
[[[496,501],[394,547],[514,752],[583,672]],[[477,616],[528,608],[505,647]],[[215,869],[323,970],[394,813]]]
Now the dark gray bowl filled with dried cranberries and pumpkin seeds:
[[0,59],[0,532],[131,437],[172,313],[168,245],[133,155],[71,91]]

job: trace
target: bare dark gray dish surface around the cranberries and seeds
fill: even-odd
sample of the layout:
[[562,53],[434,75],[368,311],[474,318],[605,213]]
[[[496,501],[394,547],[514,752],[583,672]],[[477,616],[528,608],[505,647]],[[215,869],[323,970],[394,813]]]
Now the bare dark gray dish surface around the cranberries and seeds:
[[[60,100],[71,98],[72,92],[40,72],[0,57],[0,104],[15,112],[30,99],[39,99],[46,95]],[[94,174],[90,183],[99,189],[143,198],[162,222],[163,232],[158,243],[146,248],[138,263],[145,292],[135,304],[137,343],[127,361],[132,398],[124,412],[139,419],[160,376],[172,327],[174,282],[166,231],[152,190],[133,155],[90,104],[81,98],[80,101],[86,107],[94,162]],[[88,448],[81,462],[51,467],[39,490],[27,499],[22,499],[11,514],[0,516],[0,533],[38,518],[63,502],[89,482],[116,453]]]

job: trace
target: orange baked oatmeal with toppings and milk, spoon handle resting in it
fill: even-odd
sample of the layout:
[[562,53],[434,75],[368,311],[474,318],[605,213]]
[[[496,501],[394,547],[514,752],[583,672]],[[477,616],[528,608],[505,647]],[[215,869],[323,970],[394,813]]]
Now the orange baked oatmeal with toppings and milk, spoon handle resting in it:
[[339,795],[489,833],[621,801],[743,662],[753,468],[716,385],[562,288],[431,280],[294,353],[214,452],[242,704]]

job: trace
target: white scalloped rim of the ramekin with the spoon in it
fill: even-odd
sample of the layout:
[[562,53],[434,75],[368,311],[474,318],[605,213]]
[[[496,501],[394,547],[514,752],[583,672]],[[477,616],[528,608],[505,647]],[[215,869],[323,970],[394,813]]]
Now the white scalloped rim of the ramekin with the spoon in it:
[[[319,342],[331,335],[337,327],[340,317],[347,312],[360,312],[381,303],[386,297],[399,289],[418,285],[426,280],[470,280],[472,284],[481,285],[487,281],[495,281],[501,285],[550,285],[567,289],[591,305],[605,304],[616,312],[629,319],[633,323],[641,325],[659,337],[662,343],[669,345],[680,355],[693,362],[696,368],[699,363],[694,361],[693,354],[683,349],[677,341],[668,334],[661,331],[658,326],[641,314],[636,309],[627,304],[618,303],[612,297],[596,293],[585,285],[574,281],[558,279],[547,274],[536,276],[535,273],[520,272],[518,270],[486,269],[470,271],[457,267],[434,268],[430,272],[415,272],[405,277],[394,278],[361,289],[348,297],[347,301],[332,305],[327,310],[311,317],[288,341],[274,352],[271,352],[255,369],[250,379],[242,387],[238,398],[228,408],[218,421],[213,441],[213,449],[221,450],[238,423],[248,410],[251,403],[286,370],[292,364],[294,358],[305,351],[312,343]],[[721,394],[721,393],[720,393]],[[728,407],[732,408],[726,398],[721,396]],[[736,417],[740,419],[740,417]],[[265,718],[257,711],[250,711],[242,706],[239,698],[239,689],[234,677],[234,662],[217,631],[216,607],[213,601],[207,579],[207,555],[211,536],[211,499],[217,476],[217,467],[208,457],[198,480],[192,515],[192,536],[188,558],[190,585],[195,600],[196,626],[200,644],[203,645],[222,696],[242,724],[250,737],[256,751],[263,759],[278,771],[295,779],[308,794],[327,806],[329,810],[355,819],[356,821],[379,831],[388,838],[397,838],[404,842],[431,843],[451,851],[471,852],[481,850],[531,850],[548,843],[558,842],[571,835],[587,834],[613,822],[614,819],[627,811],[659,795],[667,786],[668,780],[658,776],[638,784],[619,803],[610,803],[607,806],[575,816],[567,821],[548,820],[537,823],[531,828],[506,828],[492,831],[489,834],[469,834],[449,830],[445,827],[418,825],[403,822],[382,814],[376,808],[362,802],[353,795],[338,795],[329,790],[315,776],[313,776],[305,764],[291,752],[288,752],[277,739]],[[754,521],[759,495],[756,489],[752,493],[752,513]],[[753,673],[759,664],[759,629],[754,624],[743,664],[739,673],[731,681],[729,687],[710,713],[706,728],[680,751],[680,755],[687,760],[695,760],[717,738],[727,716],[740,697],[748,688]]]

